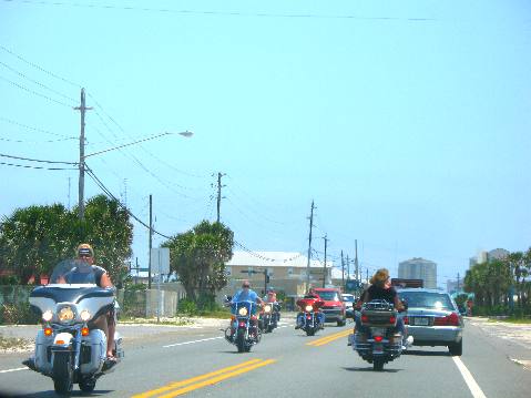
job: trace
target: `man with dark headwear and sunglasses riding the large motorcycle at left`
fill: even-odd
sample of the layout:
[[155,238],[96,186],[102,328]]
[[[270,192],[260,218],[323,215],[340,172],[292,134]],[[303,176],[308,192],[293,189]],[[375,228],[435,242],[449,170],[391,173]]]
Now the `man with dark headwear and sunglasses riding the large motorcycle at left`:
[[[94,265],[94,251],[91,245],[82,243],[78,246],[78,266],[73,267],[67,274],[61,276],[58,280],[60,284],[76,284],[88,283],[85,280],[86,275],[94,275],[94,283],[102,288],[113,287],[111,278],[106,271],[98,265]],[[98,318],[89,322],[90,329],[101,329],[106,336],[106,356],[109,363],[116,363],[116,358],[113,355],[114,347],[114,331],[116,329],[116,319],[114,315],[114,308],[110,309],[105,314],[100,315]],[[109,364],[108,364],[109,365]]]

